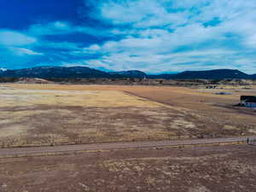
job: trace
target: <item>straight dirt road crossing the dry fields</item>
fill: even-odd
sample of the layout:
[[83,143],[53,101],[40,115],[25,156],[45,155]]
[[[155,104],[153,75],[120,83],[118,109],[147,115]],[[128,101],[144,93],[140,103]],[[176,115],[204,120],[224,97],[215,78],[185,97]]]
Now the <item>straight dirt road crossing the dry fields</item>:
[[[230,137],[230,138],[211,138],[211,139],[194,139],[194,140],[177,140],[177,141],[147,141],[134,143],[93,143],[93,144],[76,144],[61,145],[53,147],[32,147],[32,148],[3,148],[0,149],[0,158],[32,156],[40,154],[73,154],[77,152],[90,150],[112,150],[125,148],[160,148],[168,146],[214,144],[214,143],[239,143],[247,142],[248,137]],[[256,137],[249,137],[255,139]]]

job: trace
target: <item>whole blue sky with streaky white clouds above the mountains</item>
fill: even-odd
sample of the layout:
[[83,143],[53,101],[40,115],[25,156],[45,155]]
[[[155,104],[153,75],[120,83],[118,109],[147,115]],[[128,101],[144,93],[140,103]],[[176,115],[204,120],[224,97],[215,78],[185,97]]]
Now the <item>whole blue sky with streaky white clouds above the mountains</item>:
[[256,73],[256,0],[1,0],[0,68]]

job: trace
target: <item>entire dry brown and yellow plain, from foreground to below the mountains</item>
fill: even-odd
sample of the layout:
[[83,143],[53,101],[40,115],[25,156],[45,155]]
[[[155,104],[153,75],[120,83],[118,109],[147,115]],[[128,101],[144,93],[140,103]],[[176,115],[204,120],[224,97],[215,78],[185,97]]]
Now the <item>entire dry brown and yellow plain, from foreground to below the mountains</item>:
[[256,89],[216,91],[1,84],[0,191],[255,191]]

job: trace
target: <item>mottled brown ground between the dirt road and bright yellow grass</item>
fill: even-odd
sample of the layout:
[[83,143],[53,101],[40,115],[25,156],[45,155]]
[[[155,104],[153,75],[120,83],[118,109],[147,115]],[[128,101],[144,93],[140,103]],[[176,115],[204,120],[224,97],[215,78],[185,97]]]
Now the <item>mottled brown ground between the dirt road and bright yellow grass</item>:
[[3,148],[71,143],[109,143],[196,137],[240,136],[230,124],[207,124],[201,116],[174,108],[2,108]]

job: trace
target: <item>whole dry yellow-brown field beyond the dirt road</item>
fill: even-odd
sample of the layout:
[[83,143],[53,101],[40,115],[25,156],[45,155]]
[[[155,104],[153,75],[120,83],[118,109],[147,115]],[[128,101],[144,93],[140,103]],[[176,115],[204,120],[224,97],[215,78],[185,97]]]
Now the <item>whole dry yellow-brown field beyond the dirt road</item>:
[[0,147],[256,134],[254,110],[233,107],[256,89],[229,91],[233,95],[167,86],[1,84]]

